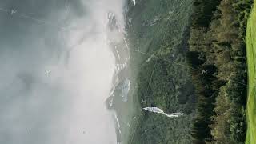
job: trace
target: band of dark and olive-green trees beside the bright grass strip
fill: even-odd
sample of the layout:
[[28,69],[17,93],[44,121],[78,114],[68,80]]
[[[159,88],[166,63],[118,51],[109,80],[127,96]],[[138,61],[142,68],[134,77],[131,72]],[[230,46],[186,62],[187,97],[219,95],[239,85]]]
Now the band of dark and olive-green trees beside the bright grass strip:
[[186,53],[197,95],[194,143],[244,143],[246,22],[252,0],[195,0]]

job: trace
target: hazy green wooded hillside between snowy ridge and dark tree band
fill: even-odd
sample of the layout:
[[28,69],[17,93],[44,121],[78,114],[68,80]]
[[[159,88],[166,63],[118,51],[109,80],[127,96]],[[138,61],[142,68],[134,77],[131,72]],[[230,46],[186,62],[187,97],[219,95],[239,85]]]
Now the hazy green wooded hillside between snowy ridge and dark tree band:
[[[138,115],[131,144],[191,143],[194,87],[186,66],[190,0],[138,0],[126,15],[130,67],[136,75]],[[132,81],[132,82],[134,82]],[[152,114],[142,107],[158,106],[166,113],[184,112],[180,118]]]

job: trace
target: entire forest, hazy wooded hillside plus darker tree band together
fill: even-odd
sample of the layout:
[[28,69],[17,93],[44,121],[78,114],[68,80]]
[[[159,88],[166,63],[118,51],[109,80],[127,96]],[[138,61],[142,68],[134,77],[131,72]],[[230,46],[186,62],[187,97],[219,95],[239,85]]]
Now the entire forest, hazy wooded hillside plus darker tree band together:
[[[252,4],[138,1],[127,14],[134,20],[129,40],[139,49],[131,54],[139,106],[128,143],[245,142],[245,37]],[[186,116],[165,118],[141,110],[146,106]]]

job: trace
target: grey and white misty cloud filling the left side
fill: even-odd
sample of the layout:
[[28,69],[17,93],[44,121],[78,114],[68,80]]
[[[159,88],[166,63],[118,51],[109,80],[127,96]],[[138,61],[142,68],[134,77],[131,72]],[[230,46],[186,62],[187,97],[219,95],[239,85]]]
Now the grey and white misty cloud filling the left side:
[[[117,143],[107,13],[121,0],[0,2],[0,143]],[[12,12],[13,10],[13,12]]]

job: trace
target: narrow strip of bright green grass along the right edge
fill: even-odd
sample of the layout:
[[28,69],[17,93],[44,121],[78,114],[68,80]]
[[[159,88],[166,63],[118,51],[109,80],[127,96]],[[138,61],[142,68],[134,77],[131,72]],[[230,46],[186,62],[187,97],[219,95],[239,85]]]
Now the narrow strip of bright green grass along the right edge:
[[[255,1],[254,1],[255,2]],[[246,50],[248,61],[248,99],[246,143],[256,142],[256,7],[254,6],[247,23]]]

